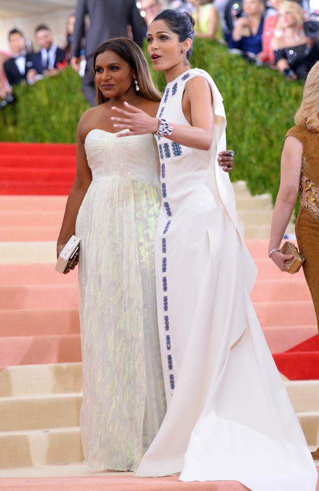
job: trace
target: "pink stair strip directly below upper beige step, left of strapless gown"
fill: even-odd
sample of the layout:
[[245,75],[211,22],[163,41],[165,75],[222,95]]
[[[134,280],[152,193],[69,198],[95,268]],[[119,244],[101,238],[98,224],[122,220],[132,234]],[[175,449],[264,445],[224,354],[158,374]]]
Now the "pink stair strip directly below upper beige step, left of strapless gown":
[[0,264],[1,286],[78,284],[78,272],[60,274],[54,264]]

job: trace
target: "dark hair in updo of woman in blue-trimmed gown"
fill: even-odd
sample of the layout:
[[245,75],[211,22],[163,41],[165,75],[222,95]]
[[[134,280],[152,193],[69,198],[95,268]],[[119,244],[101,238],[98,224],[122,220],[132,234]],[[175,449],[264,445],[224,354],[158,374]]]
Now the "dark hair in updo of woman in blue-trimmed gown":
[[[178,35],[180,43],[185,39],[194,39],[194,24],[193,17],[188,12],[180,12],[179,10],[166,9],[160,12],[153,22],[164,21],[171,31]],[[187,51],[187,59],[191,57],[193,52],[193,45]]]

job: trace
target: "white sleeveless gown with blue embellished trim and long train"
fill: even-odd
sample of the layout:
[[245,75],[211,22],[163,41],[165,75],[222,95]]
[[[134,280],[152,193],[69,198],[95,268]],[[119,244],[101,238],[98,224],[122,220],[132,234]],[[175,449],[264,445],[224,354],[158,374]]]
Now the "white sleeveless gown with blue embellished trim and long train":
[[[136,475],[238,481],[253,491],[315,491],[317,470],[249,293],[256,279],[234,191],[217,163],[226,149],[222,97],[191,69],[169,82],[159,116],[188,125],[186,83],[213,94],[210,151],[160,138],[162,205],[155,260],[168,410]],[[200,97],[200,95],[199,95]]]

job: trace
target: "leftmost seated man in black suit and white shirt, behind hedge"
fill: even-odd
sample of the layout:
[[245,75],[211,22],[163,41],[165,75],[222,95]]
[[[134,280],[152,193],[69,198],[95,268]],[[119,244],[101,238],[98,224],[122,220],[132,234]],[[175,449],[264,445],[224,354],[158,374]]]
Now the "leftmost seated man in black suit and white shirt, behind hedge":
[[26,41],[21,31],[11,29],[9,32],[9,46],[12,58],[3,64],[3,69],[10,85],[26,82],[27,72],[32,65],[32,58],[26,52]]

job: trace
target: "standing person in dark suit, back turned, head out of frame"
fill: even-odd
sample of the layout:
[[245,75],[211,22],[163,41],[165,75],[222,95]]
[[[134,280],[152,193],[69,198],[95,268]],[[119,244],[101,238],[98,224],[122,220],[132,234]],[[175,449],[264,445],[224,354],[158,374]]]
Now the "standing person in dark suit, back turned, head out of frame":
[[132,27],[134,41],[142,46],[146,28],[135,0],[78,0],[71,47],[71,65],[77,71],[80,69],[80,47],[86,14],[89,15],[90,26],[85,35],[86,67],[82,90],[89,104],[95,106],[92,68],[95,50],[111,37],[128,37],[128,25]]

